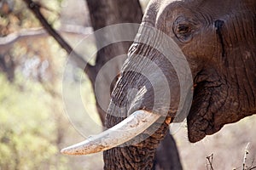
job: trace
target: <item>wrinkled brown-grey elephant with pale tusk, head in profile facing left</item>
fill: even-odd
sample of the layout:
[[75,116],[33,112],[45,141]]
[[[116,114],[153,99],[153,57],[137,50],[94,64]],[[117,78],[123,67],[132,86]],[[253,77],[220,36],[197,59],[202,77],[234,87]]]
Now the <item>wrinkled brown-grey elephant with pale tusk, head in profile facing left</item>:
[[[175,53],[171,58],[178,66],[160,52],[174,47],[159,37],[163,34],[181,50],[189,72],[183,72]],[[104,169],[152,169],[155,150],[189,93],[193,96],[186,118],[192,143],[256,113],[255,54],[255,0],[152,0],[113,88],[109,129],[61,152],[103,150]],[[183,89],[179,74],[188,73],[192,82]]]

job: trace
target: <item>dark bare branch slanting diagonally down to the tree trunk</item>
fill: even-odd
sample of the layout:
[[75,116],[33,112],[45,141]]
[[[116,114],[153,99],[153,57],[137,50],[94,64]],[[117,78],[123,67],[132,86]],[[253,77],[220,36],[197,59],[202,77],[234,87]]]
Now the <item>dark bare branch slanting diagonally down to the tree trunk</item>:
[[[72,59],[75,64],[85,71],[86,74],[90,74],[93,66],[87,63],[79,54],[73,51],[73,48],[49,25],[48,21],[44,18],[44,15],[40,12],[40,5],[33,2],[32,0],[23,0],[27,7],[32,11],[32,13],[38,18],[44,29],[55,38],[55,40],[67,51],[67,54],[72,54]],[[86,66],[86,68],[84,68]]]

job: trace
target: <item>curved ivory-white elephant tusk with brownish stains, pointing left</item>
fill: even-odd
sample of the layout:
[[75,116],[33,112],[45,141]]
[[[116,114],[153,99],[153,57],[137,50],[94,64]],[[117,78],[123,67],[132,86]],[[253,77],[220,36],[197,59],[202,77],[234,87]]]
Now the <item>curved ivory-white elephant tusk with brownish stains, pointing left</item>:
[[160,118],[160,115],[148,111],[135,111],[125,118],[124,121],[109,128],[108,130],[92,136],[79,144],[73,144],[61,153],[67,155],[87,155],[91,153],[109,150],[120,144],[133,139],[138,134],[143,133],[148,127]]

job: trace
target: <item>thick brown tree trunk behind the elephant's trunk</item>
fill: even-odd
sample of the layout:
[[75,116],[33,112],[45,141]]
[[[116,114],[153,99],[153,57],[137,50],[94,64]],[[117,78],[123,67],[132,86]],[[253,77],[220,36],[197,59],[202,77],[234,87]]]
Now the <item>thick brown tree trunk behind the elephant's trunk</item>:
[[[90,22],[94,31],[113,24],[140,23],[143,18],[142,8],[138,0],[86,0],[86,2],[90,10]],[[107,41],[108,37],[105,38]],[[100,47],[100,43],[101,42],[97,42],[96,45]],[[95,87],[94,84],[96,82],[97,73],[100,71],[102,66],[106,64],[109,59],[113,59],[120,54],[127,54],[130,46],[131,42],[119,42],[98,51],[96,55],[96,65],[90,68],[93,71],[89,71],[93,74],[88,75],[93,88]],[[115,68],[113,71],[115,71],[115,75],[118,75],[124,59],[116,61],[117,62],[113,64],[112,68]],[[109,72],[106,72],[105,74],[105,79],[101,80],[102,82],[100,83],[114,84],[113,82],[115,82],[116,79],[112,80],[112,77],[109,76]],[[108,85],[102,86],[102,89],[97,89],[102,90],[102,93],[97,93],[101,94],[100,96],[97,96],[97,98],[102,98],[102,101],[107,102],[103,105],[109,104],[110,99],[109,95],[106,95],[106,92],[111,93],[112,89],[113,87],[108,87]],[[102,109],[97,101],[96,108],[99,112],[102,123],[104,124],[106,108]],[[161,141],[157,153],[155,154],[154,169],[182,169],[175,140],[169,133],[166,135],[166,138]]]

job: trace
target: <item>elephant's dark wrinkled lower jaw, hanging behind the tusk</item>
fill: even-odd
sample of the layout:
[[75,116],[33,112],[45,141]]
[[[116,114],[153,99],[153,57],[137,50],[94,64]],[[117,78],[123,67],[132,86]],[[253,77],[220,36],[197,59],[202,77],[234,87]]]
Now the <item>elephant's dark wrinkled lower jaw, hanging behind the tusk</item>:
[[224,83],[198,83],[187,117],[189,141],[195,143],[252,112],[243,111]]

